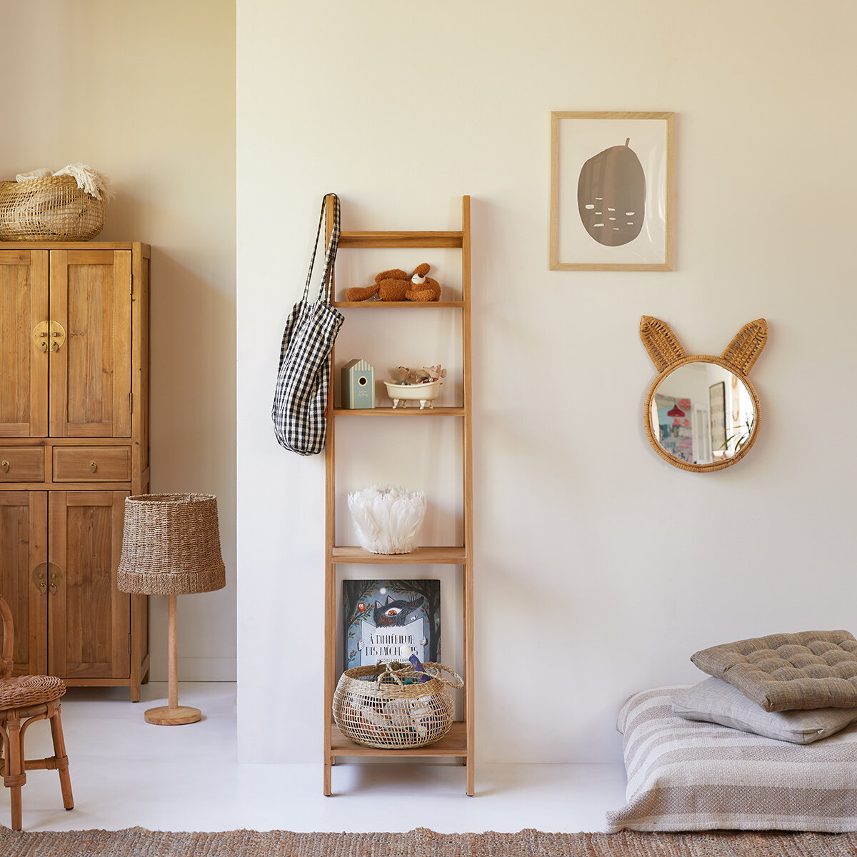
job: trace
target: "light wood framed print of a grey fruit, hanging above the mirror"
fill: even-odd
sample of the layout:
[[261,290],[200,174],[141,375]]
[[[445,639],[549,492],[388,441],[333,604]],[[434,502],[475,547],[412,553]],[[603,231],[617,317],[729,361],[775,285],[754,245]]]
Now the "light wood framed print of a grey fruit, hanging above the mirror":
[[550,115],[550,269],[672,271],[674,113]]

